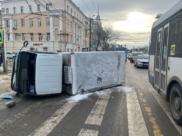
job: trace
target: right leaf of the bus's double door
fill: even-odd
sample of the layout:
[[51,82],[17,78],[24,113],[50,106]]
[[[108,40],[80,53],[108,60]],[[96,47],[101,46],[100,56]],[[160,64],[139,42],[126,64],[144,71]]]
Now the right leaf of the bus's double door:
[[161,72],[160,72],[160,90],[166,94],[166,74],[167,74],[167,52],[168,52],[168,36],[169,36],[169,24],[164,26],[163,44],[161,53]]

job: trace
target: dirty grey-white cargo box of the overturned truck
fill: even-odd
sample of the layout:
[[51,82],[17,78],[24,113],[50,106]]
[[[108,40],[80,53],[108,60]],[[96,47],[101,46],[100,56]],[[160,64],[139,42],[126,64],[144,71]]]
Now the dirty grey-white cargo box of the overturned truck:
[[71,95],[125,83],[125,51],[63,55],[63,90]]

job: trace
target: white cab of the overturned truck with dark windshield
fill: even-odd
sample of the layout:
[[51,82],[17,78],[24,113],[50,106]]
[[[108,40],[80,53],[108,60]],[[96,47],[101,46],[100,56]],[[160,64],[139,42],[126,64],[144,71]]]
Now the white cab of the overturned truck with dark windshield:
[[12,90],[20,94],[48,95],[62,92],[62,55],[21,51],[12,72]]

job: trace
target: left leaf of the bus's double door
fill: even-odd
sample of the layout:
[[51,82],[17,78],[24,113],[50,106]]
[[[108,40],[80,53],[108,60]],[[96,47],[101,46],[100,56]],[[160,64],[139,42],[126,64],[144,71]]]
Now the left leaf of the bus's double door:
[[160,89],[160,68],[161,68],[161,49],[163,41],[163,28],[160,28],[157,33],[157,46],[155,52],[155,75],[154,75],[154,86]]

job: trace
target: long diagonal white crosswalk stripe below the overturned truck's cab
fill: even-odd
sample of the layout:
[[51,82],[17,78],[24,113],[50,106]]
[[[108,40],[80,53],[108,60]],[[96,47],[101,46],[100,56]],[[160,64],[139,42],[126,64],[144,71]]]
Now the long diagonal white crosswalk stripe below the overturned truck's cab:
[[57,110],[50,118],[48,118],[39,128],[37,128],[29,136],[47,136],[75,105],[76,103],[65,103],[59,110]]

